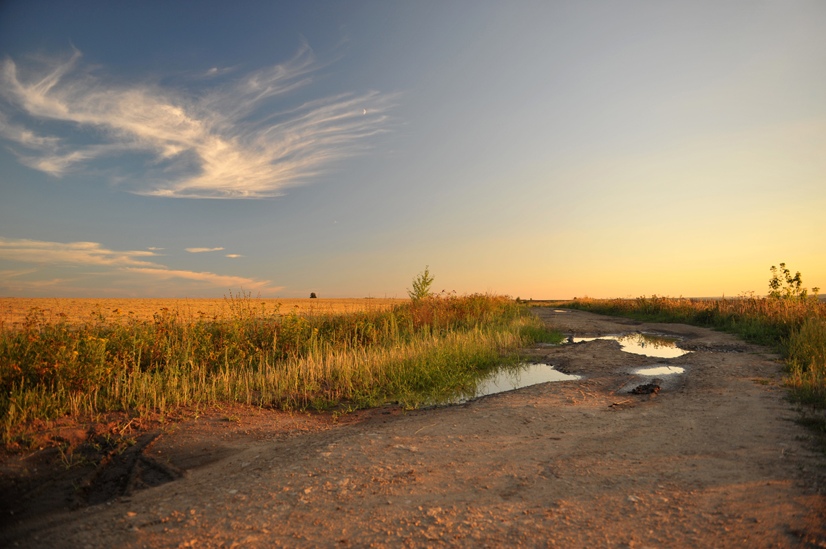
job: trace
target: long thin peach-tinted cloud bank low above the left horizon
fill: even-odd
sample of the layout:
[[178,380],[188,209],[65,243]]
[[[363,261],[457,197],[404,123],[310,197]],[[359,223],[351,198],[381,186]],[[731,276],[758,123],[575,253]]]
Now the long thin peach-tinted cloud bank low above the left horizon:
[[[130,292],[140,294],[239,287],[278,291],[283,287],[271,286],[268,280],[187,271],[145,260],[156,255],[146,251],[110,250],[95,242],[60,243],[0,237],[0,260],[37,266],[0,271],[0,290],[12,293],[43,289],[53,292],[55,288],[100,291],[105,287],[107,291],[117,291],[128,287]],[[67,277],[67,274],[71,276]],[[106,284],[99,284],[101,277],[106,277]],[[167,284],[159,287],[159,282]]]

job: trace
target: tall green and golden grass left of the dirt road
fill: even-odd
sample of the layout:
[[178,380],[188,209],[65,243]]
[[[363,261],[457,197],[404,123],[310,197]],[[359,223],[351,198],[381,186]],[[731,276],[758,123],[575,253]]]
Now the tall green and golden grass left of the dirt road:
[[[443,296],[391,310],[280,315],[230,296],[225,318],[83,324],[45,319],[0,327],[0,433],[34,420],[241,402],[281,409],[416,407],[472,391],[512,351],[558,341],[506,297]],[[508,352],[510,351],[510,354]]]

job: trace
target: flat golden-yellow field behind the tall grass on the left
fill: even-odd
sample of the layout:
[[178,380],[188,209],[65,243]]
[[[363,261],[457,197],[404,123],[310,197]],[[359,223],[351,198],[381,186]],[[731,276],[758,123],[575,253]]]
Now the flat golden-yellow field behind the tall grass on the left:
[[[361,310],[386,310],[401,305],[406,299],[242,299],[236,306],[252,308],[256,315],[272,315],[278,311],[288,315],[344,315]],[[280,306],[279,306],[280,305]],[[103,315],[108,322],[124,322],[127,319],[151,320],[164,308],[177,312],[182,319],[228,317],[233,305],[226,299],[71,299],[36,297],[0,297],[0,323],[6,328],[21,324],[32,307],[43,311],[46,320],[56,322],[65,319],[71,324],[96,320]],[[64,316],[65,315],[65,316]]]

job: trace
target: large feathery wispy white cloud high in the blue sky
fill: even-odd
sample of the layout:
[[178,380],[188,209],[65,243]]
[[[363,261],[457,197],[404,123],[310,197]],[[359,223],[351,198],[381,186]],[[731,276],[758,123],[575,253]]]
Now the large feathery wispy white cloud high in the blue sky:
[[135,182],[128,190],[137,194],[278,196],[367,148],[387,130],[393,102],[378,92],[342,93],[275,110],[273,98],[306,88],[322,66],[306,45],[282,64],[199,92],[116,82],[80,59],[74,50],[39,72],[6,59],[0,136],[17,144],[21,163],[58,177],[102,159],[149,155],[150,163],[118,174]]

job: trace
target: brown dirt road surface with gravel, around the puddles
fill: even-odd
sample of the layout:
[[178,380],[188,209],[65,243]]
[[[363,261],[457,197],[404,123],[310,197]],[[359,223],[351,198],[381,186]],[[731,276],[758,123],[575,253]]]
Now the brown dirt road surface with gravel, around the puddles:
[[[679,336],[693,353],[538,347],[525,353],[582,379],[339,423],[266,410],[191,419],[142,448],[183,477],[17,523],[6,543],[826,547],[824,455],[793,421],[776,357],[683,324],[534,312],[569,334]],[[651,364],[685,372],[657,394],[620,391]]]

